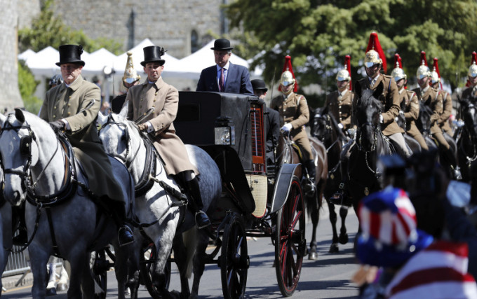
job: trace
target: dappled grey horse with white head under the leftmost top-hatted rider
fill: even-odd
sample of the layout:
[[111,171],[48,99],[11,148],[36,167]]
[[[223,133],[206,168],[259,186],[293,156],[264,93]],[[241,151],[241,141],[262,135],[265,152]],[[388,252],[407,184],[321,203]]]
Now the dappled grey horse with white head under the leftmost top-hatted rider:
[[[90,193],[88,178],[74,160],[72,149],[62,146],[48,123],[15,109],[8,116],[0,115],[0,127],[4,197],[15,206],[27,200],[32,297],[45,297],[46,263],[49,256],[58,254],[71,264],[68,298],[93,298],[89,252],[112,243],[117,260],[126,260],[130,246],[117,246],[114,221],[102,213],[101,202]],[[110,161],[122,187],[119,192],[133,199],[133,181],[127,169],[114,158]],[[58,202],[61,204],[55,204]],[[124,298],[126,265],[117,263],[115,270],[119,298]]]

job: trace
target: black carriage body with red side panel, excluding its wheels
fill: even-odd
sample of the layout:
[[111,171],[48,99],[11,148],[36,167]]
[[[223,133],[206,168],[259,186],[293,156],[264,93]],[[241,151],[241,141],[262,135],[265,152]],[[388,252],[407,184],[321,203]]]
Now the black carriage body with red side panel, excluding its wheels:
[[200,146],[215,160],[240,209],[257,217],[267,204],[263,110],[253,95],[179,92],[174,121],[184,144]]

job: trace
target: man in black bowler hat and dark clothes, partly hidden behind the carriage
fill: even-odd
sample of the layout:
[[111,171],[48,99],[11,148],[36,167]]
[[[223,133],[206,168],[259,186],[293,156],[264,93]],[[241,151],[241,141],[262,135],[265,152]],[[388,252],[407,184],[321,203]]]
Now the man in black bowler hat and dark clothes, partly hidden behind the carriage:
[[[252,80],[253,94],[259,99],[264,99],[267,95],[268,88],[265,87],[263,80]],[[265,104],[264,104],[265,106]],[[278,139],[280,138],[280,113],[274,109],[265,106],[265,151],[267,153],[267,165],[275,164],[275,151],[278,146]]]

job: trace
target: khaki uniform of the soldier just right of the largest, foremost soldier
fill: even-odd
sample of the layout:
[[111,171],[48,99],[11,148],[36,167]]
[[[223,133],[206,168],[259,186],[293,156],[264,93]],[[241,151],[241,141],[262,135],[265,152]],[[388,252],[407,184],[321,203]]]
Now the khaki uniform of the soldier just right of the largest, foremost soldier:
[[401,101],[404,101],[404,117],[405,117],[405,130],[406,133],[414,138],[422,149],[429,150],[427,147],[424,137],[422,137],[421,132],[417,129],[416,122],[419,117],[419,99],[417,99],[416,92],[410,90],[403,90],[401,92]]

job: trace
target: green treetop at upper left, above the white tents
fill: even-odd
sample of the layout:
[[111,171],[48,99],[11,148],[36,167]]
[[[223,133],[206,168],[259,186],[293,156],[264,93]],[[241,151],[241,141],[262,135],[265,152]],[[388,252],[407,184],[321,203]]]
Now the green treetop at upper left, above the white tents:
[[109,39],[90,39],[81,30],[74,31],[66,26],[61,18],[54,15],[53,0],[46,0],[41,8],[38,18],[32,21],[31,28],[20,29],[18,32],[18,48],[20,52],[32,49],[35,52],[48,46],[58,49],[64,44],[82,45],[84,50],[91,53],[100,48],[105,48],[118,55],[121,53],[122,44]]

